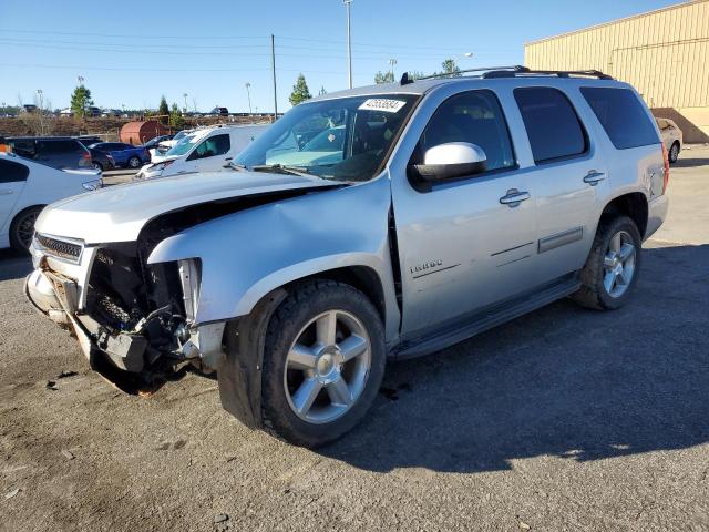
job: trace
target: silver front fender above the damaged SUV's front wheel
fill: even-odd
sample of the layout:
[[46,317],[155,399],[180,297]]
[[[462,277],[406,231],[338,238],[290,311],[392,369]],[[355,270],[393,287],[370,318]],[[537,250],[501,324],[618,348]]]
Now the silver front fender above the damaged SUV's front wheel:
[[147,262],[202,260],[197,323],[245,316],[269,291],[309,275],[369,267],[383,288],[390,339],[400,317],[389,252],[390,205],[387,176],[314,191],[185,229],[162,241]]

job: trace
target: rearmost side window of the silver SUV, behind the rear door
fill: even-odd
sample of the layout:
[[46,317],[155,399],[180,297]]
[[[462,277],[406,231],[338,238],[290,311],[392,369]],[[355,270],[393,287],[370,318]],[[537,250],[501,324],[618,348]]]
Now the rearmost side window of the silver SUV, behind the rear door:
[[633,91],[585,86],[580,93],[618,150],[659,144],[653,122]]

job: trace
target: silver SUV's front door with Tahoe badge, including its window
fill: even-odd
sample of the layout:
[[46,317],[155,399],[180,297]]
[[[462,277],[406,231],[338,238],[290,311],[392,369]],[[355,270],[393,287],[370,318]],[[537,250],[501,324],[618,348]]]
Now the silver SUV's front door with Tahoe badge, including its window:
[[394,180],[403,339],[454,327],[485,307],[520,295],[534,274],[531,182],[517,168],[493,91],[467,91],[443,101],[410,164],[419,164],[427,150],[451,142],[480,146],[486,168],[440,181],[428,191],[417,190],[411,180]]

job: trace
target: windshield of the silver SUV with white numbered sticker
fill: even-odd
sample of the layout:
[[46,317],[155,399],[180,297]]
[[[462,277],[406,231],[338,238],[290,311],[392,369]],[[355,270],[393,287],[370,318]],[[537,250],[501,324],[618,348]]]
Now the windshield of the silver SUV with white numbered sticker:
[[391,94],[296,105],[234,163],[246,168],[296,166],[328,180],[371,180],[415,99]]

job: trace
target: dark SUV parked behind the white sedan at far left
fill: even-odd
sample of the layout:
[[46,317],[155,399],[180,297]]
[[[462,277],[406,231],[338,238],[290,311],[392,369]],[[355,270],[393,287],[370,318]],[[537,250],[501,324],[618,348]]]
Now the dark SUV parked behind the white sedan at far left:
[[90,168],[91,153],[76,139],[69,136],[8,137],[12,153],[54,168]]

